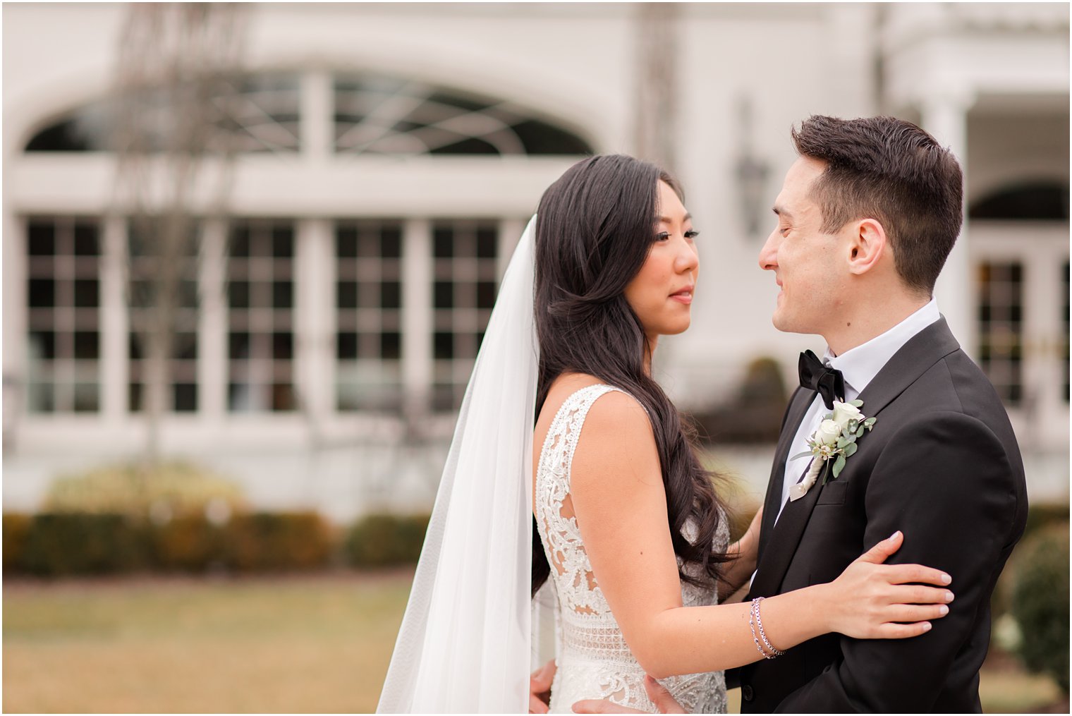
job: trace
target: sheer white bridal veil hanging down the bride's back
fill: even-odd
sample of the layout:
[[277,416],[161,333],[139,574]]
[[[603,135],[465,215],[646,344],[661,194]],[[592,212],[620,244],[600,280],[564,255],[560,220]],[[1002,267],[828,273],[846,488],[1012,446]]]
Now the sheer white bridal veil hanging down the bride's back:
[[536,218],[458,415],[377,713],[527,713]]

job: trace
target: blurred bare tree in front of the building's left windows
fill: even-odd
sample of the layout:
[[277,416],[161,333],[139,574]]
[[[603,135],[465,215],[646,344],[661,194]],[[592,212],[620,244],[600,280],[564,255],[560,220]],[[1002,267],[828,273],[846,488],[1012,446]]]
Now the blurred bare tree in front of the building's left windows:
[[125,283],[131,332],[144,350],[137,377],[149,466],[160,460],[161,416],[172,406],[172,360],[196,335],[200,300],[190,287],[199,275],[200,220],[226,214],[242,28],[237,4],[142,3],[131,5],[121,33],[113,210],[129,218]]

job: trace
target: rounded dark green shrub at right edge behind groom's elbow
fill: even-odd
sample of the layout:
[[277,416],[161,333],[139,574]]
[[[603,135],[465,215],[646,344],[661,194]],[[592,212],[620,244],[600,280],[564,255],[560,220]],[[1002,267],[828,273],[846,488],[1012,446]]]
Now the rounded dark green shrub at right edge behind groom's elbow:
[[1069,525],[1039,528],[1016,558],[1011,612],[1019,655],[1031,671],[1052,675],[1069,692]]

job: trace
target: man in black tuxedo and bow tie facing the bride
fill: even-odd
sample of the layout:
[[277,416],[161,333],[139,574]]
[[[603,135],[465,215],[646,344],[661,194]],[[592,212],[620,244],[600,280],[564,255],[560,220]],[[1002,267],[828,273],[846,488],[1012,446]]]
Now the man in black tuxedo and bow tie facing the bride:
[[[831,633],[741,668],[742,711],[980,712],[991,594],[1023,534],[1027,495],[1001,402],[932,298],[961,228],[961,168],[926,132],[890,117],[812,117],[792,137],[800,158],[759,263],[780,287],[775,327],[829,347],[823,361],[801,359],[747,598],[832,581],[899,529],[887,562],[948,572],[956,599],[922,637]],[[834,400],[863,401],[875,423],[836,478],[805,490],[812,456],[798,456]],[[653,696],[662,710],[676,705]]]

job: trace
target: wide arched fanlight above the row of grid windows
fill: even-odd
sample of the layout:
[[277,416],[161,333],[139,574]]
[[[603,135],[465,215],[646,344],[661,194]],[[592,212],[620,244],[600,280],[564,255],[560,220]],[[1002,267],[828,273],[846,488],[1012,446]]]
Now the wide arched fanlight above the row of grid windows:
[[[301,87],[295,74],[258,74],[215,80],[208,121],[210,147],[233,151],[301,150]],[[169,92],[94,102],[69,111],[33,134],[28,152],[113,151],[118,113],[139,103],[148,134],[163,137],[174,119]],[[592,146],[560,122],[510,102],[413,79],[373,74],[333,80],[337,153],[359,154],[591,154]],[[306,119],[308,121],[308,118]],[[157,141],[158,146],[162,140]],[[227,143],[227,144],[225,144]]]

